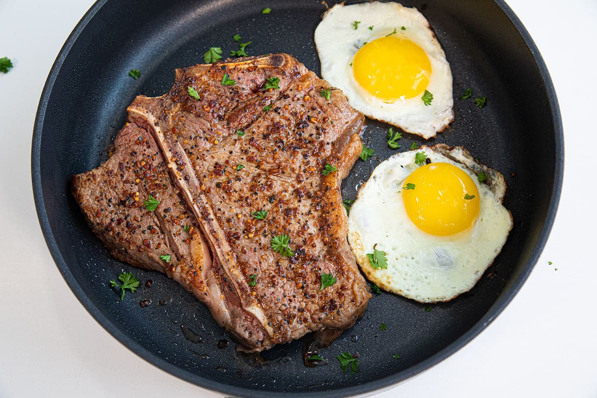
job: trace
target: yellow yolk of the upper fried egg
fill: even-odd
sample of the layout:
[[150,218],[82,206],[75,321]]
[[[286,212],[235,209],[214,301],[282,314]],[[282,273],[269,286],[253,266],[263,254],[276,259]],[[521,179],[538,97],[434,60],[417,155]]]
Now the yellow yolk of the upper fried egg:
[[374,97],[393,102],[421,94],[429,84],[431,63],[421,47],[388,36],[365,44],[352,61],[355,80]]

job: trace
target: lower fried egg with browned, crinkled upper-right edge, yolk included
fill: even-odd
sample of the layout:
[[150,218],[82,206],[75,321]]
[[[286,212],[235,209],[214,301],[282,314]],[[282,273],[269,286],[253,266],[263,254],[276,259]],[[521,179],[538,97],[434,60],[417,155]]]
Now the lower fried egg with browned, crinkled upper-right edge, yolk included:
[[350,247],[380,288],[421,303],[449,301],[475,285],[506,242],[505,193],[504,177],[461,147],[396,153],[358,192]]

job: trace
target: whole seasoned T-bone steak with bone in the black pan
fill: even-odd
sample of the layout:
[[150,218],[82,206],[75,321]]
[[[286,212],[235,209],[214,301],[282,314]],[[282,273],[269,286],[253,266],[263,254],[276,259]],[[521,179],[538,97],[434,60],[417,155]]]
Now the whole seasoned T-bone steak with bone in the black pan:
[[[371,297],[340,195],[363,126],[341,91],[287,54],[177,69],[170,92],[133,101],[113,156],[73,176],[72,192],[116,258],[173,277],[239,349],[336,337]],[[290,257],[272,249],[280,235]],[[321,290],[330,273],[337,282]]]

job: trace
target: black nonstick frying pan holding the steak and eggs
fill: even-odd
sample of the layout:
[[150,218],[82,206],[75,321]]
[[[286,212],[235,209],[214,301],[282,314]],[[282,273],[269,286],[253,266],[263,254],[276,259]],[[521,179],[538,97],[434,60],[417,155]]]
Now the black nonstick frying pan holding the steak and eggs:
[[[466,147],[501,171],[508,184],[504,205],[515,224],[475,288],[431,308],[392,294],[374,295],[364,317],[320,351],[325,365],[306,368],[304,341],[260,356],[239,353],[207,308],[176,282],[111,258],[85,224],[68,181],[106,160],[133,98],[167,92],[174,69],[202,63],[208,47],[235,50],[235,33],[253,41],[247,47],[251,55],[290,53],[319,73],[313,32],[325,5],[103,0],[75,27],[51,69],[32,146],[33,189],[45,239],[64,279],[97,322],[147,361],[211,390],[247,397],[315,397],[325,391],[342,397],[413,377],[468,343],[503,310],[536,263],[558,205],[564,140],[552,82],[527,31],[503,1],[404,4],[429,19],[454,76],[456,118],[427,143]],[[266,7],[272,12],[261,14]],[[141,71],[138,80],[128,76],[131,69]],[[484,108],[459,99],[467,87],[487,97]],[[344,198],[355,198],[373,168],[396,152],[387,147],[387,127],[368,122],[364,141],[376,155],[357,161],[344,180]],[[399,150],[411,141],[423,143],[404,134]],[[121,302],[108,281],[122,270],[133,271],[141,287]],[[151,304],[142,308],[142,300]],[[386,331],[380,331],[381,322]],[[358,373],[341,371],[334,357],[344,351],[358,353]]]

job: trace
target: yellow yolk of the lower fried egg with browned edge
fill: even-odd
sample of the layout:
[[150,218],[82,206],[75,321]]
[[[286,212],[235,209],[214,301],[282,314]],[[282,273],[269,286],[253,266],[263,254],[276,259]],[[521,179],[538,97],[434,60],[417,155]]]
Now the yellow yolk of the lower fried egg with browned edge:
[[401,191],[408,217],[432,235],[453,235],[466,230],[479,215],[479,190],[475,182],[450,163],[430,163],[417,168],[406,178]]

